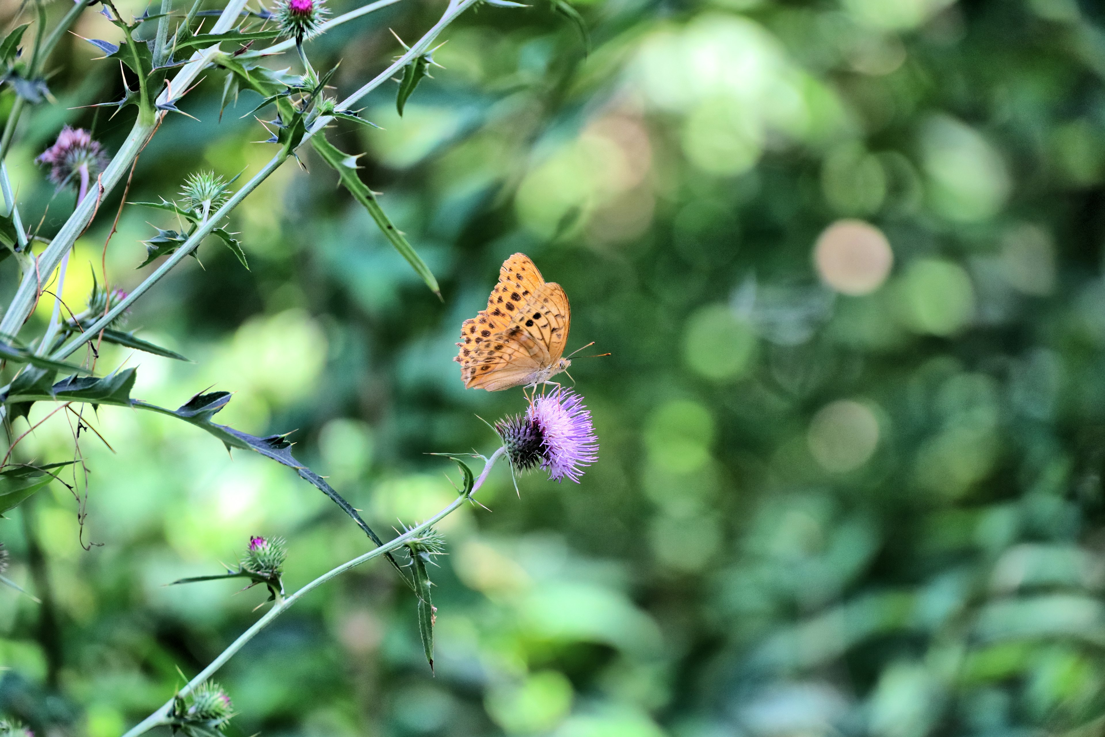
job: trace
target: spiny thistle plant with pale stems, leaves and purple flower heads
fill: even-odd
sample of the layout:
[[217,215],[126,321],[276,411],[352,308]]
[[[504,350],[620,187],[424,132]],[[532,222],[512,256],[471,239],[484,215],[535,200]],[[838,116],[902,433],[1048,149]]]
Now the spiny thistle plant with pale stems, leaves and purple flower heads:
[[[327,20],[328,11],[322,0],[281,0],[275,12],[248,11],[246,0],[227,0],[217,11],[218,18],[208,25],[203,22],[204,18],[198,14],[199,4],[178,7],[176,0],[161,0],[159,13],[147,13],[141,18],[127,20],[110,0],[105,0],[103,14],[116,28],[116,35],[113,40],[92,39],[90,42],[106,57],[126,69],[124,92],[122,97],[98,101],[93,107],[108,108],[112,116],[124,110],[129,114],[134,108],[135,117],[129,134],[114,156],[108,156],[103,144],[90,130],[70,126],[62,128],[55,140],[39,154],[36,162],[56,192],[72,190],[76,194],[72,213],[50,239],[36,240],[35,233],[28,228],[3,166],[3,157],[18,138],[24,112],[30,106],[49,104],[51,101],[46,86],[46,63],[59,40],[65,38],[81,14],[88,11],[91,3],[78,0],[51,29],[45,28],[46,15],[40,4],[39,25],[33,35],[24,38],[27,27],[23,25],[0,40],[0,61],[8,67],[4,82],[14,95],[0,135],[0,193],[4,203],[3,211],[0,212],[0,243],[4,254],[17,256],[6,262],[0,257],[0,262],[3,262],[0,267],[19,272],[19,286],[0,318],[0,360],[6,362],[8,369],[4,375],[7,383],[0,386],[0,420],[10,441],[8,452],[0,462],[0,514],[25,502],[54,481],[66,483],[60,478],[65,470],[73,471],[74,483],[66,483],[66,486],[74,494],[76,468],[85,474],[87,488],[88,470],[80,449],[81,431],[88,429],[85,423],[85,407],[91,404],[96,412],[119,407],[176,418],[213,435],[227,449],[254,452],[286,466],[332,499],[375,546],[319,576],[291,596],[285,596],[283,581],[287,546],[282,538],[260,535],[250,538],[240,562],[234,567],[227,567],[225,572],[175,581],[173,583],[189,583],[243,578],[248,580],[248,589],[257,585],[265,586],[269,591],[267,601],[272,602],[272,607],[161,708],[130,729],[127,737],[135,737],[158,725],[170,726],[173,731],[181,731],[188,737],[214,737],[220,734],[233,716],[233,707],[227,693],[210,682],[211,675],[305,593],[376,557],[386,558],[402,582],[413,590],[419,629],[427,660],[432,668],[436,609],[431,603],[429,567],[434,564],[436,556],[444,552],[445,547],[444,538],[433,526],[472,499],[503,455],[508,455],[516,468],[539,466],[548,471],[550,478],[558,481],[565,477],[578,481],[583,466],[594,461],[597,446],[589,414],[582,408],[581,399],[571,392],[536,399],[523,415],[499,423],[504,446],[487,457],[480,456],[483,457],[484,466],[478,476],[473,474],[465,462],[454,459],[464,477],[463,488],[456,499],[430,519],[410,528],[404,527],[393,539],[385,541],[323,475],[293,456],[292,443],[285,435],[253,435],[214,422],[215,415],[231,400],[229,391],[203,390],[177,409],[165,408],[133,396],[136,368],[105,371],[103,366],[97,365],[98,347],[104,343],[170,359],[185,359],[179,354],[126,331],[124,327],[128,310],[186,256],[196,256],[201,243],[210,235],[229,248],[243,269],[249,269],[235,234],[227,229],[227,220],[245,198],[288,159],[298,161],[308,144],[337,172],[340,185],[366,209],[387,242],[410,263],[427,286],[441,297],[438,282],[430,269],[392,224],[377,199],[378,193],[362,182],[357,172],[358,156],[335,147],[327,139],[327,128],[335,122],[371,126],[371,123],[358,114],[356,106],[369,93],[396,76],[402,81],[397,96],[397,106],[401,113],[419,82],[427,76],[427,67],[433,63],[432,53],[441,33],[480,0],[450,0],[440,20],[418,41],[410,46],[402,44],[401,53],[387,69],[365,81],[358,88],[346,91],[344,97],[326,94],[335,70],[316,72],[304,45],[336,25],[398,1],[377,0]],[[498,4],[513,7],[506,2]],[[269,23],[273,18],[276,23]],[[150,33],[148,29],[152,28],[155,20],[156,33]],[[139,28],[146,23],[150,25]],[[283,54],[293,46],[303,62],[303,73],[274,71],[270,57]],[[139,154],[154,136],[164,130],[162,123],[168,116],[187,115],[181,109],[187,95],[196,85],[207,84],[209,78],[218,78],[222,84],[222,109],[234,105],[243,88],[252,90],[261,96],[261,103],[246,115],[254,114],[267,130],[269,138],[264,144],[273,147],[271,158],[255,171],[249,172],[248,179],[233,189],[236,177],[225,180],[214,172],[197,171],[187,177],[177,194],[166,192],[158,201],[151,202],[128,201],[126,196],[129,192],[130,175]],[[176,224],[171,229],[156,228],[156,232],[144,241],[147,245],[147,259],[135,266],[155,262],[156,265],[137,286],[120,289],[108,278],[106,269],[98,273],[94,270],[86,307],[74,309],[62,301],[70,253],[93,220],[107,214],[102,212],[101,206],[120,185],[124,185],[124,197],[118,212],[114,214],[115,224],[123,210],[128,207],[160,210],[171,215]],[[117,241],[112,240],[115,224],[104,245],[104,263],[107,249],[117,248]],[[48,294],[53,295],[53,313],[49,325],[41,334],[27,335],[24,328],[32,312]],[[24,335],[21,336],[21,333]],[[20,433],[14,423],[20,418],[27,418],[32,406],[39,402],[56,404],[56,411],[66,410],[76,418],[73,454],[76,461],[29,464],[18,460],[21,452],[19,443],[30,431]],[[48,419],[52,415],[53,412],[48,414]],[[63,417],[69,415],[63,413]],[[83,520],[83,516],[80,518]],[[401,565],[396,555],[400,551],[406,551],[408,565]],[[0,546],[0,580],[14,587],[13,582],[2,576],[6,566],[7,552]],[[22,737],[30,733],[14,723],[0,723],[0,737],[6,735]]]

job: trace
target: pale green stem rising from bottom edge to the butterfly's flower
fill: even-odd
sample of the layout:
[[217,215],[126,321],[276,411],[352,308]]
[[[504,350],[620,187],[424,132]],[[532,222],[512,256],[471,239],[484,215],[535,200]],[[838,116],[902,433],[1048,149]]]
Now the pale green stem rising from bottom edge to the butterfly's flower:
[[[373,548],[372,550],[369,550],[368,552],[358,556],[352,560],[348,560],[338,566],[337,568],[332,568],[330,570],[326,571],[311,583],[307,583],[302,589],[299,589],[292,596],[287,597],[286,599],[278,599],[276,603],[273,604],[273,608],[270,609],[264,617],[254,622],[253,627],[251,627],[249,630],[239,635],[238,640],[234,640],[234,642],[232,642],[229,647],[219,653],[219,656],[215,657],[213,661],[211,661],[211,664],[208,665],[206,668],[203,668],[199,675],[189,681],[185,687],[178,691],[176,693],[176,696],[185,697],[188,694],[192,693],[200,684],[210,678],[212,675],[215,674],[215,672],[219,668],[225,665],[227,662],[245,645],[245,643],[255,638],[257,633],[260,633],[266,627],[272,624],[273,620],[283,614],[286,609],[288,609],[292,604],[298,601],[304,594],[309,593],[311,591],[317,589],[323,583],[329,581],[332,578],[340,576],[341,573],[346,572],[351,568],[356,568],[357,566],[360,566],[361,564],[367,562],[372,558],[378,558],[382,556],[385,552],[390,552],[391,550],[402,547],[410,539],[420,535],[422,530],[438,524],[441,519],[456,512],[456,509],[459,509],[462,504],[472,498],[472,496],[476,493],[476,491],[483,485],[484,481],[487,478],[487,474],[492,470],[492,466],[494,466],[495,462],[498,461],[499,457],[502,457],[505,453],[506,453],[505,446],[499,448],[497,451],[492,453],[491,457],[487,459],[487,462],[484,463],[484,468],[480,473],[480,476],[472,484],[472,491],[469,492],[467,494],[461,494],[460,496],[457,496],[455,499],[453,499],[453,502],[449,506],[446,506],[444,509],[442,509],[434,516],[423,522],[421,525],[415,525],[414,527],[407,530],[402,535],[396,537],[394,539],[390,540],[389,543],[386,543],[385,545],[381,545],[378,548]],[[172,709],[172,701],[173,699],[170,698],[161,706],[161,708],[157,709],[148,717],[143,719],[133,729],[123,735],[123,737],[138,737],[138,735],[143,735],[152,729],[154,727],[168,724],[168,715],[169,712]]]

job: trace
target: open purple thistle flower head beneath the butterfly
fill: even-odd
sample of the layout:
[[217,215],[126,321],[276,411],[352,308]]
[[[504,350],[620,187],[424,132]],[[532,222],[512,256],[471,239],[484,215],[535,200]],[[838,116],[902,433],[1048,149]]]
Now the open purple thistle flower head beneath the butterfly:
[[501,420],[495,429],[515,468],[540,466],[550,481],[579,483],[583,466],[598,460],[591,413],[570,389],[558,387],[536,398],[524,414]]

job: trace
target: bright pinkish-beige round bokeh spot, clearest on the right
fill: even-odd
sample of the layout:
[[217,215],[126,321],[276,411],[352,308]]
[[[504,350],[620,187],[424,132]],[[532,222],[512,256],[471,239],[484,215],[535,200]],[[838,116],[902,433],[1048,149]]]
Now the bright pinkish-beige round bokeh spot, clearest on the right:
[[841,294],[859,296],[882,286],[894,265],[894,252],[883,231],[862,220],[838,220],[813,246],[821,280]]

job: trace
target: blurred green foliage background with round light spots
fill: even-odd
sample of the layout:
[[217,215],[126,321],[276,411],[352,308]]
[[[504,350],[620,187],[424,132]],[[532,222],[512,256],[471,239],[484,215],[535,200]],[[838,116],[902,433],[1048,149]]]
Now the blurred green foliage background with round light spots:
[[[235,391],[220,421],[295,431],[297,457],[390,534],[453,498],[455,468],[425,453],[488,453],[480,418],[524,407],[517,389],[463,390],[450,360],[507,255],[564,285],[569,350],[612,352],[572,367],[601,443],[582,483],[535,474],[519,497],[497,468],[492,512],[441,525],[435,677],[413,597],[373,564],[219,674],[240,712],[228,734],[1102,734],[1105,10],[578,8],[589,54],[545,2],[482,7],[442,36],[445,69],[404,117],[389,86],[365,110],[383,130],[332,130],[367,151],[364,180],[444,304],[308,152],[233,215],[250,271],[209,241],[131,314],[194,362],[97,364],[138,366],[135,396],[164,406]],[[308,52],[341,61],[347,93],[399,53],[389,28],[411,42],[442,10],[404,0]],[[94,11],[75,30],[117,40]],[[120,95],[95,55],[71,36],[57,104],[9,157],[48,235],[72,193],[33,157],[65,122],[114,151],[134,116],[76,107]],[[213,71],[189,94],[200,122],[165,123],[128,199],[267,160],[239,117],[256,96],[220,122],[221,90]],[[77,245],[78,305],[119,197]],[[113,285],[151,269],[135,270],[139,241],[164,214],[123,211]],[[83,534],[60,484],[0,520],[10,576],[46,599],[0,590],[0,712],[40,737],[119,735],[255,621],[262,591],[165,587],[218,572],[249,535],[287,538],[291,588],[369,547],[288,468],[168,418],[86,413],[114,453],[82,434]],[[20,448],[72,459],[73,427],[55,415]]]

